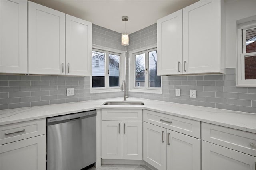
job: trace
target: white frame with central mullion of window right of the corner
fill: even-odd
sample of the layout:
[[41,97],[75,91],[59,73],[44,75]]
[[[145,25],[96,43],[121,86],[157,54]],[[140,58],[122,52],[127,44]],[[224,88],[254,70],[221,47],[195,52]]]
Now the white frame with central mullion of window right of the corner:
[[[129,92],[155,93],[162,94],[162,76],[161,87],[149,87],[149,57],[148,52],[157,51],[156,46],[141,48],[129,52]],[[135,55],[145,53],[145,68],[148,68],[148,73],[145,73],[145,86],[135,86]],[[147,75],[147,76],[146,76]]]

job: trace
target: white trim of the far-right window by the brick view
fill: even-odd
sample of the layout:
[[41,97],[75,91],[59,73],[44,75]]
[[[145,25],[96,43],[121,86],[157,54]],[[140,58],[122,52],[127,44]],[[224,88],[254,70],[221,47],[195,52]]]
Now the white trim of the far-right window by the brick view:
[[237,66],[237,77],[236,87],[256,87],[256,80],[244,79],[244,57],[250,55],[256,55],[256,52],[246,53],[246,45],[243,40],[243,30],[256,27],[256,21],[250,21],[238,25],[238,66]]

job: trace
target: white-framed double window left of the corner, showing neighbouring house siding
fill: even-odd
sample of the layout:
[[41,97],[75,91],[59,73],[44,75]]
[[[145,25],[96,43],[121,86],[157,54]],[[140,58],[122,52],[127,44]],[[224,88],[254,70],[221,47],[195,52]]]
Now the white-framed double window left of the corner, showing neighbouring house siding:
[[92,49],[91,92],[120,90],[121,78],[124,78],[124,59],[122,53]]

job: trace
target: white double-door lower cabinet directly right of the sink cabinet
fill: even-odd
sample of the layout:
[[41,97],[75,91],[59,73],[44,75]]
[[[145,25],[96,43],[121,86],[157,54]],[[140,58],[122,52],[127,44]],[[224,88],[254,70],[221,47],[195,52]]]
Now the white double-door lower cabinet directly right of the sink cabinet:
[[143,160],[158,170],[200,170],[200,139],[146,122],[143,139]]

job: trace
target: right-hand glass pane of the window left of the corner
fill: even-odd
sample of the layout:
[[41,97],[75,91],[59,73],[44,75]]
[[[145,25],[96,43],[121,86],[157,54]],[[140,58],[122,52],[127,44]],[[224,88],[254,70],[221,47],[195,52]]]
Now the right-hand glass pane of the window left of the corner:
[[109,86],[119,86],[119,55],[109,54]]

